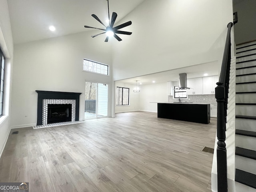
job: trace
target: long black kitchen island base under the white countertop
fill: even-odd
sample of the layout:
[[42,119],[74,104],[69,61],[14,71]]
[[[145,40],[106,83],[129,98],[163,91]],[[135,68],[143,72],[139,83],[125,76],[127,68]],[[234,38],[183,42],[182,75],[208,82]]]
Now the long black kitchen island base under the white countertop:
[[210,104],[158,103],[157,117],[208,124]]

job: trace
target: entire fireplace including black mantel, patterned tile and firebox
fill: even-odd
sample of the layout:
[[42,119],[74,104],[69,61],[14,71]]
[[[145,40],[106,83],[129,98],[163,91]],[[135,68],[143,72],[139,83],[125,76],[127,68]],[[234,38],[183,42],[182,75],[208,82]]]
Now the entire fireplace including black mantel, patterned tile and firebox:
[[38,93],[37,125],[79,120],[81,93],[39,90],[36,92]]

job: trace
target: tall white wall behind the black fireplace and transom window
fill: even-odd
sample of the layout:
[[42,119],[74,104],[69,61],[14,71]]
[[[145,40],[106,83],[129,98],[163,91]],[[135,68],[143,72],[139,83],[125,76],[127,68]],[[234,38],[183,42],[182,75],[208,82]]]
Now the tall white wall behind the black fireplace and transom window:
[[[84,32],[14,46],[12,128],[37,122],[35,90],[81,92],[79,120],[84,119],[85,80],[112,86],[110,44]],[[110,76],[83,72],[83,59],[110,66]],[[110,97],[112,94],[110,94]],[[110,104],[113,106],[113,104]]]

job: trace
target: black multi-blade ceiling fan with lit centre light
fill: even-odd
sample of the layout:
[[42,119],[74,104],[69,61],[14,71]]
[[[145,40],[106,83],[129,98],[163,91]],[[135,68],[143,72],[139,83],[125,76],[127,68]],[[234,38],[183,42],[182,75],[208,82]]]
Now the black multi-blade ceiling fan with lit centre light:
[[[107,1],[108,1],[108,0],[107,0]],[[104,24],[102,23],[102,21],[101,21],[95,14],[92,14],[92,17],[95,18],[95,19],[96,19],[98,22],[100,22],[102,25],[104,25]],[[131,21],[128,21],[128,22],[125,22],[125,23],[123,23],[123,24],[121,24],[121,25],[118,25],[118,26],[116,26],[116,27],[113,27],[113,26],[114,26],[114,23],[115,23],[115,21],[116,21],[116,17],[117,17],[116,12],[113,12],[113,13],[112,13],[112,17],[111,17],[111,21],[110,21],[110,17],[109,17],[109,5],[108,5],[108,20],[109,20],[108,24],[109,24],[109,25],[108,25],[108,26],[105,26],[105,25],[104,25],[104,26],[106,27],[106,29],[100,29],[100,28],[90,27],[90,26],[86,26],[86,25],[85,25],[84,27],[85,27],[85,28],[100,29],[100,30],[105,31],[105,32],[103,32],[103,33],[100,33],[100,34],[104,34],[104,33],[107,34],[107,37],[106,37],[106,39],[105,39],[105,42],[108,42],[109,36],[114,36],[114,38],[116,38],[118,41],[122,41],[122,39],[121,39],[120,37],[118,37],[116,34],[124,34],[124,35],[130,35],[130,34],[132,34],[132,32],[119,31],[119,29],[131,25],[132,22],[131,22]],[[100,34],[93,35],[92,37],[96,37],[96,36],[98,36],[98,35],[100,35]]]

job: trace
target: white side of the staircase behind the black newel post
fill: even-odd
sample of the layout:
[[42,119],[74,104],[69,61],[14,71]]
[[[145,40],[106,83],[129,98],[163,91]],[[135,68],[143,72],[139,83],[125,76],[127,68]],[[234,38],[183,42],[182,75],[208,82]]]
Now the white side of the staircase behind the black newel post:
[[[236,123],[236,56],[231,58],[226,124],[228,191],[235,191],[235,123]],[[217,136],[212,160],[212,192],[218,192],[217,182]]]

